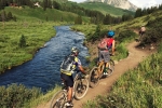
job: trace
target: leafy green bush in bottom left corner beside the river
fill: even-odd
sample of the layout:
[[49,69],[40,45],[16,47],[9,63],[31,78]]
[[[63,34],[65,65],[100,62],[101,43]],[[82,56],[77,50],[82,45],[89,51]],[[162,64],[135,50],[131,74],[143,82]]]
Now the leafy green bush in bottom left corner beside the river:
[[37,98],[40,94],[39,89],[26,89],[23,84],[0,86],[0,108],[22,108],[25,103]]

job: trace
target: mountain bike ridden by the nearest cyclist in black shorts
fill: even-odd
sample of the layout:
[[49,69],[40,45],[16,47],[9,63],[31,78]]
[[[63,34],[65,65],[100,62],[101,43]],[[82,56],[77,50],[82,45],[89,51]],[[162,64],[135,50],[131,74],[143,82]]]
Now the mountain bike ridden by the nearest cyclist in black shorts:
[[[64,85],[64,84],[63,84]],[[73,93],[72,99],[81,99],[83,98],[89,90],[89,80],[85,78],[84,75],[81,72],[77,72],[75,77],[75,84],[73,84]],[[67,89],[63,87],[58,91],[53,97],[51,102],[50,108],[66,108],[67,102]]]

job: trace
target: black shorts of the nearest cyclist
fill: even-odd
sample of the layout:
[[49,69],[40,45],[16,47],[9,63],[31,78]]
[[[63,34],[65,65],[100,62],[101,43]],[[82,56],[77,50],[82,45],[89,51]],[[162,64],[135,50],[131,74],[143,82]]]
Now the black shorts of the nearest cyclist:
[[73,86],[73,77],[67,76],[65,73],[60,73],[60,78],[65,81],[67,86],[72,87]]

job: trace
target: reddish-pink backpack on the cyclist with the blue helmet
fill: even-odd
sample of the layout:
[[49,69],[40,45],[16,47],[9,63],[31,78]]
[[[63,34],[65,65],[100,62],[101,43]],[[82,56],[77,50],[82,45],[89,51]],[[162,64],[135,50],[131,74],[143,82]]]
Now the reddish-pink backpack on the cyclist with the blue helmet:
[[99,50],[108,50],[111,48],[113,39],[112,38],[105,38],[98,43]]

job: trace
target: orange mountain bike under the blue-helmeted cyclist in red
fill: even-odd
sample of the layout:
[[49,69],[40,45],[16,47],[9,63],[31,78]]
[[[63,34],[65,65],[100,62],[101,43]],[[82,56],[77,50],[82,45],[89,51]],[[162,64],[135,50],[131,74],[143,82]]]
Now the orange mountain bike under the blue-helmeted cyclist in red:
[[91,87],[95,87],[98,85],[99,80],[102,78],[106,78],[107,76],[111,76],[112,72],[114,71],[114,62],[110,59],[109,66],[108,66],[108,75],[104,75],[104,69],[105,69],[105,63],[99,62],[97,66],[93,67],[92,70],[90,71],[89,76],[89,83]]

